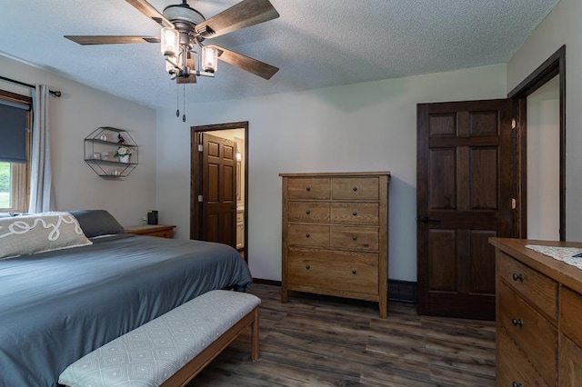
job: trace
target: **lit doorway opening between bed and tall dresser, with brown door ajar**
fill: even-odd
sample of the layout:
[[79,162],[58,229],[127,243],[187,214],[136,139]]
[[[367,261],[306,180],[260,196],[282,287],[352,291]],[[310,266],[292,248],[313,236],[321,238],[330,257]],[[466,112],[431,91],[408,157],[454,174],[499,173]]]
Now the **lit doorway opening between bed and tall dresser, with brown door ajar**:
[[232,245],[248,262],[248,122],[191,127],[190,239]]

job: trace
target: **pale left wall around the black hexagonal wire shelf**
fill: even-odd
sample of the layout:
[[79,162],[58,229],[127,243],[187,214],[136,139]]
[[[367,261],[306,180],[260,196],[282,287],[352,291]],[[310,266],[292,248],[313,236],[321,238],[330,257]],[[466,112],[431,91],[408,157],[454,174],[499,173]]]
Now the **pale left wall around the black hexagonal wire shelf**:
[[[141,223],[156,203],[156,111],[4,56],[0,68],[5,77],[63,93],[49,101],[55,210],[103,208],[124,225]],[[0,87],[30,95],[3,81]],[[99,126],[126,129],[140,145],[139,165],[125,181],[104,180],[83,161],[83,139]]]

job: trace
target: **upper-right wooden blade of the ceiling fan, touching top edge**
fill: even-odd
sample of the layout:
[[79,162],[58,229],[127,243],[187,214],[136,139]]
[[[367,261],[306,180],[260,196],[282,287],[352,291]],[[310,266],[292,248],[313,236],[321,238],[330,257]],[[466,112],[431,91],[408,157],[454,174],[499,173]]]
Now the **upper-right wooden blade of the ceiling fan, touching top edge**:
[[[225,35],[230,32],[258,25],[279,17],[275,7],[268,0],[243,0],[240,3],[231,6],[220,14],[211,17],[196,25],[196,32],[206,38],[212,38]],[[213,32],[209,35],[204,34],[205,29],[210,27]]]

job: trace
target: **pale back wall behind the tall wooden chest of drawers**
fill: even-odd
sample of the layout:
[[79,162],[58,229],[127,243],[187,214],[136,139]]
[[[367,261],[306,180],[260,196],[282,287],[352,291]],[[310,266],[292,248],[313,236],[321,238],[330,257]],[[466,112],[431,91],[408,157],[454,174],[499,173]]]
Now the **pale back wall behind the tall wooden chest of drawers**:
[[[157,114],[157,201],[162,223],[189,234],[190,126],[249,122],[248,260],[256,278],[281,279],[279,173],[386,171],[389,277],[416,281],[416,104],[503,98],[506,66],[493,65]],[[196,87],[196,85],[193,85]]]

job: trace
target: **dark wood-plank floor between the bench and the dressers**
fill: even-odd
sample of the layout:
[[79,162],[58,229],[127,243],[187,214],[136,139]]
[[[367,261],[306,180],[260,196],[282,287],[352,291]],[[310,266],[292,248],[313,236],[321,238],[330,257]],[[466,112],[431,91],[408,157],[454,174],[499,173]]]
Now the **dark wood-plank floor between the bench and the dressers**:
[[261,358],[250,361],[250,329],[188,387],[493,386],[495,324],[416,315],[415,305],[305,293],[280,302],[280,288],[253,284],[261,298]]

